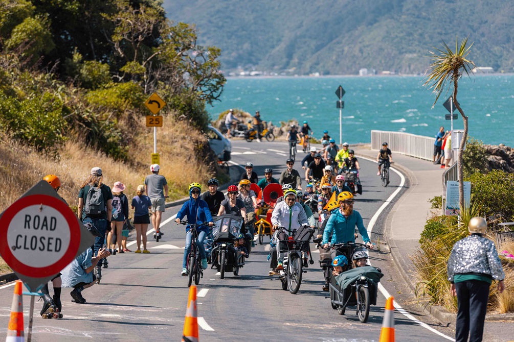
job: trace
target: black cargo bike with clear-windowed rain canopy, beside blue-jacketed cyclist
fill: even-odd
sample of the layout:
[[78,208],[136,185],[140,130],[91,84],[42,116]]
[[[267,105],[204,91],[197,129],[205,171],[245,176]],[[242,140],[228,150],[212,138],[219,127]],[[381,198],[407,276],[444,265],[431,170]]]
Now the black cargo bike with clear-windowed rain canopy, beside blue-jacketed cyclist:
[[212,266],[219,272],[219,277],[225,279],[226,272],[239,274],[245,266],[245,257],[234,248],[234,240],[241,233],[244,219],[241,216],[225,214],[212,219],[214,226],[214,247],[211,251]]

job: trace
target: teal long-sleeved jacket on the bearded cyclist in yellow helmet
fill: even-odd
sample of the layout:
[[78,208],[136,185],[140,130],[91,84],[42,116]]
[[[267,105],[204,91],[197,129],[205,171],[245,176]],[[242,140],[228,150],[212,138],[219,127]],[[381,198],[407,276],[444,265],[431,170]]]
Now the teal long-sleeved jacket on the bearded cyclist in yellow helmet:
[[368,231],[362,223],[362,217],[358,211],[353,211],[352,215],[344,217],[341,210],[334,210],[328,218],[325,230],[323,231],[323,244],[328,244],[328,237],[332,235],[332,244],[342,244],[355,242],[355,226],[359,229],[364,243],[370,242]]

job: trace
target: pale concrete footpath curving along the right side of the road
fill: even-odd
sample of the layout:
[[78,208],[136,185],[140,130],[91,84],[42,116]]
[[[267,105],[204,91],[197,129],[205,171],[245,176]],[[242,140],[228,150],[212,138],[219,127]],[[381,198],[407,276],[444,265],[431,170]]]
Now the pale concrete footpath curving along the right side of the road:
[[[363,156],[376,159],[378,151],[356,147],[356,157]],[[429,199],[442,194],[442,176],[444,170],[428,160],[414,158],[393,152],[393,168],[406,176],[406,191],[394,204],[386,219],[386,237],[391,256],[406,283],[414,292],[419,281],[411,257],[418,253],[419,238],[426,220],[439,214],[438,209],[431,209]],[[377,170],[378,171],[378,170]],[[456,314],[442,307],[426,305],[424,308],[442,323],[455,324]],[[498,340],[514,339],[514,315],[487,315],[484,336]],[[489,322],[490,321],[490,322]],[[445,325],[446,325],[445,324]]]

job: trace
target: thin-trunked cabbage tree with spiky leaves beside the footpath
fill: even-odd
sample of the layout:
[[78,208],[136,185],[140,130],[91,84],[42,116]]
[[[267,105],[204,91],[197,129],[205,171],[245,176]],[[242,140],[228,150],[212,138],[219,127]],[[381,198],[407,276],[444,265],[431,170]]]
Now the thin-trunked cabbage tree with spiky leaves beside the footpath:
[[[468,36],[469,37],[469,36]],[[461,140],[461,144],[458,147],[458,202],[461,210],[464,205],[464,181],[463,181],[463,162],[462,155],[464,147],[466,146],[466,140],[468,139],[468,117],[464,114],[461,106],[457,102],[457,90],[458,81],[461,79],[464,72],[469,76],[471,67],[474,67],[474,63],[467,59],[473,43],[469,47],[466,47],[468,43],[468,37],[466,37],[461,44],[458,44],[458,37],[455,38],[455,51],[452,51],[448,45],[443,41],[443,49],[435,49],[429,51],[432,62],[429,67],[429,75],[427,76],[425,86],[432,89],[436,94],[434,108],[439,96],[446,89],[446,93],[451,92],[453,98],[453,105],[457,108],[458,112],[461,113],[462,120],[464,122],[464,135]],[[469,203],[467,204],[469,205]]]

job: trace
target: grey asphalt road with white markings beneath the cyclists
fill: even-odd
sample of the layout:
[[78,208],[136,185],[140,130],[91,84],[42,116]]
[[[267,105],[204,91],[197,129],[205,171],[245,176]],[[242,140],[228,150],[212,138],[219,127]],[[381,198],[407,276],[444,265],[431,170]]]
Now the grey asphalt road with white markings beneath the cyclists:
[[[285,169],[285,151],[285,143],[259,144],[235,140],[231,173],[236,170],[233,164],[252,162],[260,176],[264,168],[272,167],[278,178]],[[303,156],[300,151],[297,159]],[[401,179],[392,172],[390,186],[383,188],[380,178],[376,176],[376,164],[364,159],[359,162],[364,192],[357,196],[354,209],[361,213],[364,225],[368,226],[384,201],[398,189]],[[302,171],[299,163],[296,167]],[[185,229],[172,220],[178,209],[169,208],[164,213],[163,221],[167,223],[162,231],[165,235],[159,243],[155,243],[149,235],[152,254],[125,253],[109,257],[109,268],[102,272],[102,283],[83,292],[86,304],[71,303],[71,289],[63,289],[64,319],[40,318],[38,313],[42,302],[36,301],[32,340],[179,340],[188,288],[186,277],[180,276]],[[383,241],[381,234],[387,210],[374,223],[372,240],[377,246],[381,245],[378,240]],[[200,340],[378,341],[386,301],[382,294],[379,293],[377,305],[371,307],[366,324],[359,322],[352,308],[347,309],[346,315],[338,315],[329,299],[325,298],[327,293],[321,291],[323,274],[317,262],[317,253],[314,254],[316,263],[304,273],[298,294],[283,291],[280,281],[268,276],[268,242],[268,237],[265,237],[265,244],[252,250],[239,276],[230,274],[222,280],[215,270],[205,271],[198,286]],[[133,245],[129,248],[135,249]],[[389,254],[383,250],[372,251],[370,257],[371,263],[381,267],[386,274],[382,279],[384,287],[393,294],[400,292],[400,276],[392,266]],[[9,285],[0,287],[0,325],[3,327],[7,327],[12,301],[13,287]],[[26,327],[29,298],[24,296]],[[416,316],[435,327],[430,317]],[[395,328],[398,341],[445,340],[400,313],[395,313]],[[0,339],[4,335],[5,329],[0,333]]]

